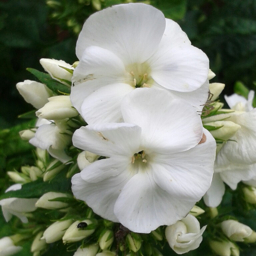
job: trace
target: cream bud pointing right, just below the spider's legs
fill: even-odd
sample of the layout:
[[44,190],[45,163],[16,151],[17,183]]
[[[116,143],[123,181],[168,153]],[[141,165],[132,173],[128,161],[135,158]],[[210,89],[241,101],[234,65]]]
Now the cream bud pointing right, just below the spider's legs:
[[215,127],[222,126],[217,130],[210,131],[210,133],[215,139],[221,139],[225,141],[232,138],[234,134],[241,128],[240,125],[235,124],[234,122],[231,122],[231,121],[215,121],[215,122],[206,123],[204,125],[210,125]]

